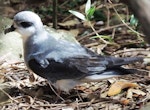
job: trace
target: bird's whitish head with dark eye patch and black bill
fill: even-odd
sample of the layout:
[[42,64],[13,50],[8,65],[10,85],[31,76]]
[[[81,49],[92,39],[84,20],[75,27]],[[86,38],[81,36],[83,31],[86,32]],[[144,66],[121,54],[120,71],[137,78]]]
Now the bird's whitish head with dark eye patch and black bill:
[[5,33],[17,31],[23,37],[29,37],[43,29],[41,18],[31,11],[21,11],[14,16],[13,25]]

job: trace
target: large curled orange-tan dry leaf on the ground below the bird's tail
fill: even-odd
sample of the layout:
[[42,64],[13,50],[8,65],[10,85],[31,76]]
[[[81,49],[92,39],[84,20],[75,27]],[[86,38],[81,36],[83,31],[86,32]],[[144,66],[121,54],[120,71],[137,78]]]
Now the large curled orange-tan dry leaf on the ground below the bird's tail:
[[124,81],[118,81],[111,85],[108,96],[114,96],[116,94],[119,94],[122,89],[130,88],[130,87],[138,87],[138,84],[130,83],[130,82],[124,82]]

